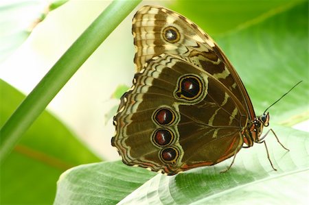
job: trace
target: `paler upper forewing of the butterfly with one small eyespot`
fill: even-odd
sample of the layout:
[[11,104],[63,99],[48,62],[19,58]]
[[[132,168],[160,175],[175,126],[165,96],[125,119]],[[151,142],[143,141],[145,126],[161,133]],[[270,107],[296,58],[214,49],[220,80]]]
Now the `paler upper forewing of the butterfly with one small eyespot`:
[[[201,67],[224,84],[255,117],[251,99],[235,69],[211,37],[181,14],[155,5],[146,5],[133,18],[135,67],[161,53],[179,56]],[[175,38],[168,38],[173,36]],[[174,36],[175,36],[174,35]]]

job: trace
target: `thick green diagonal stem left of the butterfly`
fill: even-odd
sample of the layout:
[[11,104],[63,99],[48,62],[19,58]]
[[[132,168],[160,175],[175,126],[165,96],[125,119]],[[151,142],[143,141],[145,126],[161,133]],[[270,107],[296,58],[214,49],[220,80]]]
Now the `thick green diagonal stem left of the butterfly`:
[[115,0],[71,45],[54,67],[24,99],[0,130],[0,164],[10,154],[23,133],[65,86],[82,64],[91,56],[119,23],[141,0]]

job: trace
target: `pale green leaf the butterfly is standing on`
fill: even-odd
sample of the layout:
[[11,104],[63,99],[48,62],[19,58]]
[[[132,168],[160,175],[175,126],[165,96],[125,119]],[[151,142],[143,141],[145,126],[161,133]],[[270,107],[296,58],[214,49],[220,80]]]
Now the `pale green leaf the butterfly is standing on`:
[[[308,197],[308,133],[281,126],[274,129],[290,149],[286,152],[271,134],[267,137],[268,151],[278,171],[271,168],[264,145],[242,149],[233,167],[223,174],[220,171],[231,159],[176,176],[155,176],[122,162],[102,162],[63,173],[55,204],[247,204],[251,199],[255,200],[252,204],[301,204]],[[295,186],[298,188],[291,189]]]

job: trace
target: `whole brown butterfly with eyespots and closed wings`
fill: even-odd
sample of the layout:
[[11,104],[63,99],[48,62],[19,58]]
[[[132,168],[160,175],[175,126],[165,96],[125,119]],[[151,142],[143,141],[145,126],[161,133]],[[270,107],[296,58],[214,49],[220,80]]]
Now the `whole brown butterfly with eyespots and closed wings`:
[[262,136],[268,112],[255,115],[238,73],[200,27],[146,5],[135,14],[132,33],[136,73],[113,119],[111,141],[126,165],[174,175],[232,156],[233,165],[242,147],[266,146],[273,132]]

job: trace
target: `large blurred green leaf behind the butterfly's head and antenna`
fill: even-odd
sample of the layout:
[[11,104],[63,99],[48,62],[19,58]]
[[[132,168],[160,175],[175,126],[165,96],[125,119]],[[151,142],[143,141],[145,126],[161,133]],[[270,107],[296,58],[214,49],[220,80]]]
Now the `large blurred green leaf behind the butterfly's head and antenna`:
[[299,3],[218,37],[218,44],[247,88],[256,114],[262,114],[303,80],[268,110],[271,122],[294,125],[309,118],[307,16],[308,2]]

